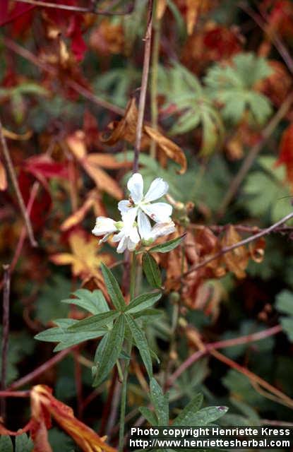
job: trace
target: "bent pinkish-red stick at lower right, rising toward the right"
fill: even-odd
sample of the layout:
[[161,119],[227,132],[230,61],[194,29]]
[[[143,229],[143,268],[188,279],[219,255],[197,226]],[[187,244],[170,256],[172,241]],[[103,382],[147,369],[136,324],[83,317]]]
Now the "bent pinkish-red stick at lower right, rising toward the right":
[[172,384],[174,384],[174,381],[176,381],[178,377],[183,374],[184,371],[186,371],[186,369],[191,367],[191,365],[198,361],[198,359],[201,359],[201,357],[207,355],[210,350],[215,350],[217,348],[234,347],[235,345],[241,344],[249,344],[251,342],[256,342],[257,340],[269,338],[270,336],[280,333],[281,331],[282,326],[276,325],[272,328],[259,331],[258,333],[241,336],[240,338],[219,340],[214,343],[206,344],[204,345],[202,350],[198,350],[197,352],[193,353],[193,355],[187,358],[186,361],[184,361],[181,366],[178,367],[177,371],[175,371],[174,374],[169,377],[168,386],[172,386]]

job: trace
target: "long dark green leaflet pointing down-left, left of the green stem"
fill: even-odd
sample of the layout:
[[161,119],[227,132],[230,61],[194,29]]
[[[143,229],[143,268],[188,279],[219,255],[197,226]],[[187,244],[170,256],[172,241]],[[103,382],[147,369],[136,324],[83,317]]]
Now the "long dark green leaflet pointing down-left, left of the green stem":
[[114,323],[112,330],[108,333],[107,342],[100,356],[100,366],[97,368],[93,386],[99,386],[107,378],[109,371],[119,358],[124,341],[125,316],[121,315]]

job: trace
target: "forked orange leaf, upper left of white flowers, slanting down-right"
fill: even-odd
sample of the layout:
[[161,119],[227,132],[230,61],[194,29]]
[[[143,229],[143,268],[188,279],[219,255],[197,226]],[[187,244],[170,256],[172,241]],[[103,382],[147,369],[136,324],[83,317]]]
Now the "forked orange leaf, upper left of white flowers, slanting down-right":
[[114,156],[109,154],[88,154],[85,145],[85,133],[81,130],[67,136],[66,143],[85,172],[95,181],[97,188],[106,191],[116,199],[121,199],[123,191],[102,168],[118,169],[126,167],[125,162],[117,162]]

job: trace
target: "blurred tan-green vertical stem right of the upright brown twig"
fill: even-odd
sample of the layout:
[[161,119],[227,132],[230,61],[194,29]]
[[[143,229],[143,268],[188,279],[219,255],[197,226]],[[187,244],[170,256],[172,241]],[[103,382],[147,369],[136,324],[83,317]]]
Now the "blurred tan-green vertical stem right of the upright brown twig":
[[[154,18],[153,18],[153,29],[154,29],[154,41],[153,41],[153,52],[152,52],[152,74],[150,79],[150,111],[152,115],[152,127],[157,129],[157,73],[160,57],[160,35],[161,35],[161,20],[157,18],[157,2],[155,2],[154,8]],[[155,141],[150,144],[150,156],[155,158]]]

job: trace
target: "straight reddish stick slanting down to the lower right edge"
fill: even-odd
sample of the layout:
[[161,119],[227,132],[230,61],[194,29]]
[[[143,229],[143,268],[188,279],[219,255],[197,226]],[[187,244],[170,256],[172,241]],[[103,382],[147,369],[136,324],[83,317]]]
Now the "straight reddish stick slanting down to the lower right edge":
[[272,393],[274,396],[277,396],[277,398],[279,398],[279,401],[282,400],[283,405],[286,405],[289,408],[293,408],[292,398],[286,396],[286,394],[282,393],[282,391],[268,383],[268,381],[265,381],[260,376],[253,374],[253,372],[251,372],[249,369],[246,369],[246,367],[243,367],[237,362],[234,362],[232,359],[227,358],[225,355],[222,355],[222,353],[217,352],[217,350],[210,350],[210,355],[213,355],[213,357],[215,357],[221,362],[224,362],[225,364],[227,364],[227,366],[247,376],[250,381],[253,381],[253,383],[257,383],[262,388],[265,388],[267,391],[269,391],[269,393]]

